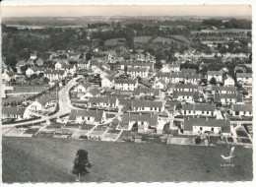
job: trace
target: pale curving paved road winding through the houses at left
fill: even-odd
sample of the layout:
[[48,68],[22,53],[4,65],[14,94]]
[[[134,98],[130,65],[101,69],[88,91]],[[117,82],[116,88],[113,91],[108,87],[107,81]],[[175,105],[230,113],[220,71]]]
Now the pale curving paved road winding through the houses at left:
[[55,113],[52,116],[44,116],[41,119],[35,119],[32,121],[27,121],[27,122],[21,122],[21,123],[15,123],[12,125],[2,125],[2,128],[11,128],[11,127],[16,127],[16,126],[21,126],[21,125],[30,125],[33,123],[40,123],[46,120],[50,120],[65,114],[70,113],[71,108],[72,108],[72,104],[69,98],[69,91],[72,87],[74,87],[75,85],[77,85],[77,80],[81,78],[81,76],[74,78],[73,80],[71,80],[70,82],[68,82],[68,84],[59,91],[58,93],[58,97],[59,97],[59,111],[57,113]]

